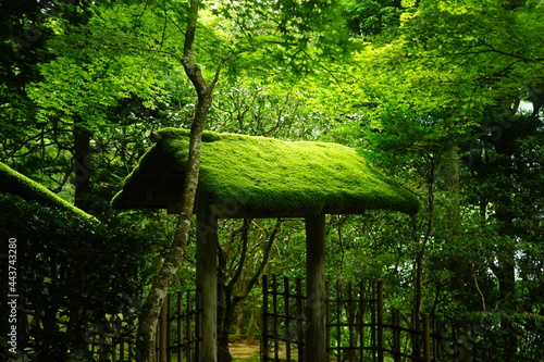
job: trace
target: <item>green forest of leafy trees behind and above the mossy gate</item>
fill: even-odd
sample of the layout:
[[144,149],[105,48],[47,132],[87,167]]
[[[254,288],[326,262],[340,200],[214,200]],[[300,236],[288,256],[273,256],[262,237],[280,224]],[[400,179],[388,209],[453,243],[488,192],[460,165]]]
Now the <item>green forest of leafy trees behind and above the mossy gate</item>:
[[[193,3],[194,55],[214,85],[207,129],[354,147],[421,201],[415,219],[329,216],[329,278],[382,279],[406,315],[542,319],[543,1]],[[33,308],[71,310],[69,326],[83,330],[119,305],[139,308],[169,253],[175,217],[114,212],[110,200],[150,132],[194,122],[183,61],[196,18],[184,1],[0,8],[0,161],[101,225],[89,230],[5,196],[21,213],[1,221],[18,222],[29,240],[40,235],[36,248],[57,249],[55,262],[78,271],[50,278],[36,262],[26,279],[57,292],[38,294]],[[226,338],[252,336],[259,275],[305,275],[304,224],[225,221],[221,229],[223,327]],[[193,237],[171,290],[194,286]],[[77,344],[54,324],[59,348]]]

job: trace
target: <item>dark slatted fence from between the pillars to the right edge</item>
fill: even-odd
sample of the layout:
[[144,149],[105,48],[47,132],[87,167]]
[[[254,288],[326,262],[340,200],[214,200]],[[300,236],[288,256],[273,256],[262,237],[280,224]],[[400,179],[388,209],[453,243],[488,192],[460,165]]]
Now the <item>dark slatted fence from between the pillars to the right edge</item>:
[[[306,305],[300,279],[263,277],[261,361],[305,361]],[[544,320],[509,317],[516,346],[500,316],[475,314],[473,321],[441,321],[422,313],[411,315],[386,308],[383,284],[327,285],[326,340],[329,360],[355,361],[544,361]],[[498,315],[498,316],[497,316]]]

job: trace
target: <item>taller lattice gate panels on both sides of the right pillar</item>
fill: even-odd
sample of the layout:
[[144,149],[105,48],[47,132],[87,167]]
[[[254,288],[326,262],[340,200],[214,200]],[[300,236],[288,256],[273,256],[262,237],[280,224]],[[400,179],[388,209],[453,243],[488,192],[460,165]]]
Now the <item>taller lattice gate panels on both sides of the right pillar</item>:
[[[301,279],[263,276],[261,361],[306,361],[305,316],[311,298]],[[326,352],[336,361],[383,361],[383,285],[326,285]],[[283,359],[281,359],[283,358]]]

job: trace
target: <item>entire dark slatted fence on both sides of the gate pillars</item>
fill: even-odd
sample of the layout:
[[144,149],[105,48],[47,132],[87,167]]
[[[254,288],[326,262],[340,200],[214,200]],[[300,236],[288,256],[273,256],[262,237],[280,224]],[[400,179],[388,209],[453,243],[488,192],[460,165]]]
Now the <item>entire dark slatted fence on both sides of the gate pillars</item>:
[[[261,361],[306,361],[308,301],[301,279],[264,276],[262,283]],[[415,323],[411,315],[386,308],[381,282],[327,285],[326,307],[331,362],[544,362],[544,319],[537,315],[510,315],[504,323],[507,315],[500,313],[461,321],[423,313]],[[158,362],[198,361],[200,311],[195,290],[168,296],[158,326]],[[34,317],[33,323],[41,322]],[[109,315],[89,328],[83,360],[136,361],[135,327],[126,325],[131,322],[122,315]],[[505,325],[511,334],[505,333]],[[505,359],[511,349],[512,357]],[[26,350],[32,355],[32,346]]]

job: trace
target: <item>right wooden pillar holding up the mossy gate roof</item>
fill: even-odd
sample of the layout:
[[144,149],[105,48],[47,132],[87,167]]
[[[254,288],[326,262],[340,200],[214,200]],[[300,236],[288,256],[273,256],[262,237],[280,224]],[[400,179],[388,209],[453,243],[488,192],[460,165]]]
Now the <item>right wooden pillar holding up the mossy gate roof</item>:
[[325,215],[306,217],[307,361],[326,359]]

